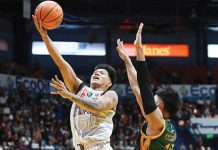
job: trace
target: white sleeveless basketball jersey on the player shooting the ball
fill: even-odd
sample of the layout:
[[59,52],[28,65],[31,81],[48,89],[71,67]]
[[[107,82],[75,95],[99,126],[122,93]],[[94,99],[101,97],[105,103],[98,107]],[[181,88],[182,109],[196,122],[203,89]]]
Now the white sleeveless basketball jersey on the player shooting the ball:
[[[78,96],[96,101],[104,91],[95,91],[88,86],[83,86]],[[114,110],[107,110],[93,114],[73,103],[70,113],[70,124],[73,134],[73,145],[93,145],[93,143],[108,143],[113,131],[112,118]]]

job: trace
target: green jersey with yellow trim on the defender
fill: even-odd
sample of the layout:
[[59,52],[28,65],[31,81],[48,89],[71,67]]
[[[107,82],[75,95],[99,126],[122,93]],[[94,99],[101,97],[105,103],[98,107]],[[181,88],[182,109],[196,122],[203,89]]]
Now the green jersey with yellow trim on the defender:
[[136,139],[135,150],[173,150],[176,140],[176,129],[174,126],[165,120],[164,127],[160,134],[155,136],[147,136],[147,124],[142,126]]

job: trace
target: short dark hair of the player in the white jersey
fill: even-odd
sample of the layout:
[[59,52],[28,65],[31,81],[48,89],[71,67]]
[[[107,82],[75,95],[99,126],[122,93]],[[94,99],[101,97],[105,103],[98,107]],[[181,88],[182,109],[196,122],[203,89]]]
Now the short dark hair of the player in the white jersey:
[[114,85],[114,83],[116,82],[116,70],[114,69],[114,67],[108,65],[108,64],[98,64],[97,66],[95,66],[95,70],[97,69],[105,69],[108,72],[108,75],[111,79],[112,85]]

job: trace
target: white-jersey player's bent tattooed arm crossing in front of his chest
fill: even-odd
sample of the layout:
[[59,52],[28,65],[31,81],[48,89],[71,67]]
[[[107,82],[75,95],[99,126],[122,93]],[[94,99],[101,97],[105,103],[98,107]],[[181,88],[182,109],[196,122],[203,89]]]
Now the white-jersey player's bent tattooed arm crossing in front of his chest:
[[95,101],[92,99],[82,98],[69,92],[64,83],[59,80],[57,76],[55,79],[52,79],[51,86],[57,89],[57,91],[51,92],[51,94],[59,94],[63,98],[69,99],[70,101],[76,103],[79,107],[94,114],[99,114],[102,111],[114,109],[118,103],[117,93],[113,90],[107,91]]

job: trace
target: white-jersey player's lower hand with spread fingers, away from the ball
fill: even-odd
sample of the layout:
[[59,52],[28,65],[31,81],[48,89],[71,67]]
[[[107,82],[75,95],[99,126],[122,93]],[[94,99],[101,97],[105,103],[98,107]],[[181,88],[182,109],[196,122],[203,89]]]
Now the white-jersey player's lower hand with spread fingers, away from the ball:
[[52,83],[50,83],[57,91],[51,92],[51,94],[59,94],[63,98],[70,98],[71,94],[66,88],[65,84],[58,79],[57,75],[55,75],[55,79],[52,78]]

